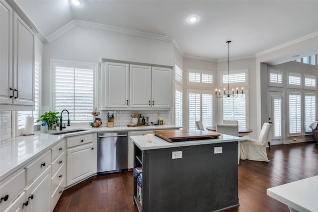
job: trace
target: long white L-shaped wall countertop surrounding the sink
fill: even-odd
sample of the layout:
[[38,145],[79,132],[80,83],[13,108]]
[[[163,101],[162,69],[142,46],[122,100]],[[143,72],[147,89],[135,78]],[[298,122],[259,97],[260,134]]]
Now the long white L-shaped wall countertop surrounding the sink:
[[46,150],[52,148],[57,142],[68,136],[76,136],[87,133],[118,132],[118,131],[146,131],[179,129],[174,125],[155,125],[147,127],[67,127],[66,130],[86,129],[87,131],[69,133],[62,135],[50,135],[35,131],[33,136],[19,136],[16,138],[0,141],[0,180],[6,178],[16,170],[24,167],[35,157],[41,155]]

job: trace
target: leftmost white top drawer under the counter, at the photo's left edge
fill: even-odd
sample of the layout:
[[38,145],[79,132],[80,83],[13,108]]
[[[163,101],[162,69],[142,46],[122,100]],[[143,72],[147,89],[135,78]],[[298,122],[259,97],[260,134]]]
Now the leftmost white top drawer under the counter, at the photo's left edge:
[[8,203],[11,203],[13,198],[19,194],[24,188],[24,169],[15,172],[10,177],[1,181],[0,198],[5,198],[0,201],[0,208],[3,209]]

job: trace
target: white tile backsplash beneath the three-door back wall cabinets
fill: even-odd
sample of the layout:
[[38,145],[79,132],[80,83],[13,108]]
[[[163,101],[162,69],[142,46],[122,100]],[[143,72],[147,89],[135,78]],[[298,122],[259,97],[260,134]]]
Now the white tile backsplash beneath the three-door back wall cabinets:
[[[147,117],[149,117],[149,124],[151,122],[158,123],[158,117],[163,119],[165,125],[171,124],[171,111],[131,111],[131,110],[119,110],[119,111],[100,111],[99,118],[101,121],[107,125],[107,113],[114,114],[114,126],[127,126],[132,123],[132,119],[130,115],[135,117],[135,114],[141,114],[141,116],[145,117],[147,121]],[[104,125],[104,124],[103,124]]]

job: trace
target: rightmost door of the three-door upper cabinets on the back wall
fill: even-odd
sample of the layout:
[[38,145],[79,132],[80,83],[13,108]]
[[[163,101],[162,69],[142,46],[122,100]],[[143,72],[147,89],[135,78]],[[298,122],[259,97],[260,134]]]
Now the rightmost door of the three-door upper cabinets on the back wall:
[[152,107],[171,108],[171,69],[152,68]]

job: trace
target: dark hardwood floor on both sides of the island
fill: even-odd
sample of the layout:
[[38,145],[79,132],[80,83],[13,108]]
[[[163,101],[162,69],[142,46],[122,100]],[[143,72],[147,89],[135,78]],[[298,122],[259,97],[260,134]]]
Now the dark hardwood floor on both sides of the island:
[[[288,212],[266,189],[318,175],[313,142],[267,148],[269,163],[240,160],[239,207],[225,212]],[[91,177],[63,192],[54,212],[137,212],[132,205],[133,173]]]

